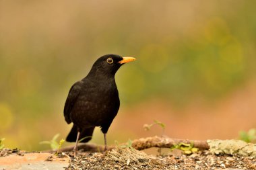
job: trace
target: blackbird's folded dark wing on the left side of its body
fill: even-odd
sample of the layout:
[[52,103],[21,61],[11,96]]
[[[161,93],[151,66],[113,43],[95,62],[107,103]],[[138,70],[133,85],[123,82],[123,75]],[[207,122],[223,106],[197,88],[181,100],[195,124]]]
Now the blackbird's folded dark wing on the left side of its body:
[[72,85],[71,89],[69,90],[69,95],[67,95],[67,99],[64,106],[64,117],[68,124],[71,123],[70,113],[81,91],[81,88],[82,81],[77,81],[75,84]]

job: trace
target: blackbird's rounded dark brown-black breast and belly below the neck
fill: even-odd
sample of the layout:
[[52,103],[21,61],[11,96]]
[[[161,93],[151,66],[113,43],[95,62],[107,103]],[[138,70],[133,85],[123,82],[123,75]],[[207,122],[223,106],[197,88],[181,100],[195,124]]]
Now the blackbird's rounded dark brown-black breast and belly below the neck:
[[[113,120],[119,110],[119,93],[116,85],[94,85],[82,89],[73,116],[79,117],[79,124],[102,126]],[[82,115],[82,116],[81,116]],[[73,120],[76,120],[73,118]]]

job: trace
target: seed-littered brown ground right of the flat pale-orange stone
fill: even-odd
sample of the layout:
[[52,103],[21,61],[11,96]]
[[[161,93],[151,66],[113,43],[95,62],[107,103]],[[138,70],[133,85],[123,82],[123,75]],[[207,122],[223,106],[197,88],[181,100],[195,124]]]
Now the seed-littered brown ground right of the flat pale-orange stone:
[[150,156],[131,148],[115,148],[77,155],[67,169],[256,169],[254,157],[212,155],[208,151],[175,155]]

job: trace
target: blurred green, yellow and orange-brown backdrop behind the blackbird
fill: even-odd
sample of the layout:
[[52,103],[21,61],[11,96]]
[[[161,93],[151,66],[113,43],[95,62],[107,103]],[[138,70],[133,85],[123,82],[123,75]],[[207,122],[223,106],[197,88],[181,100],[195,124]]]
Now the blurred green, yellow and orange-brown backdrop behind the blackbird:
[[[160,134],[235,138],[256,126],[253,1],[0,1],[0,138],[28,151],[71,125],[69,88],[103,54],[135,56],[116,75],[108,143]],[[92,142],[102,143],[100,130]]]

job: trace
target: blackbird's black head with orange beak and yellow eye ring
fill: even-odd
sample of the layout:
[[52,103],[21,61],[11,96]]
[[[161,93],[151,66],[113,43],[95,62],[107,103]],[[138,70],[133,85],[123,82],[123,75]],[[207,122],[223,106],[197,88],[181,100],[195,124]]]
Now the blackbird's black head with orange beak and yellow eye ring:
[[101,56],[94,62],[89,75],[113,75],[117,73],[118,69],[127,62],[131,62],[135,58],[131,56],[119,56],[117,54],[106,54]]

